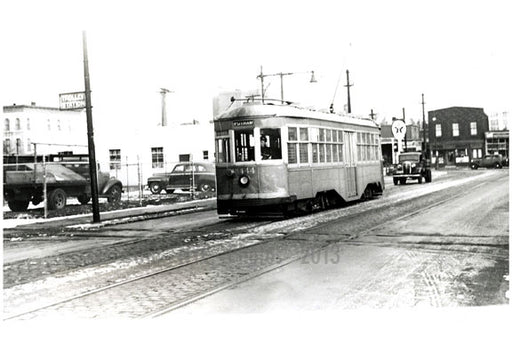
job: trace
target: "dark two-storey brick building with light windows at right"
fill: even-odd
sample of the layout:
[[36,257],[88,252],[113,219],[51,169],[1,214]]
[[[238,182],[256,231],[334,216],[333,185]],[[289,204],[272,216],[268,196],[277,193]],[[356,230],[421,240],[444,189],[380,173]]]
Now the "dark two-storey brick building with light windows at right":
[[451,107],[428,112],[432,163],[466,166],[485,153],[489,119],[482,108]]

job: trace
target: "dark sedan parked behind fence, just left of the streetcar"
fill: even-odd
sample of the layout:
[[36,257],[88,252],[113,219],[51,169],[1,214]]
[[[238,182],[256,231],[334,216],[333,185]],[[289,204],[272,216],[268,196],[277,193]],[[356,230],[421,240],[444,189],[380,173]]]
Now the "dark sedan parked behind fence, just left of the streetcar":
[[169,174],[165,187],[167,193],[177,189],[200,192],[215,191],[215,166],[211,163],[180,163]]

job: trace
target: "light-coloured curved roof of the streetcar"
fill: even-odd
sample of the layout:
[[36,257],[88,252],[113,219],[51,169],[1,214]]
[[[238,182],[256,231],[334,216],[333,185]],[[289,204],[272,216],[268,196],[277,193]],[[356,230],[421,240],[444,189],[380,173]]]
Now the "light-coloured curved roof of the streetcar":
[[331,122],[342,122],[347,124],[355,124],[370,127],[379,127],[379,125],[369,118],[358,118],[350,115],[342,115],[337,113],[327,113],[316,110],[310,110],[294,105],[272,105],[248,103],[243,106],[228,110],[215,118],[215,121],[230,120],[233,118],[244,117],[289,117],[300,119],[315,119]]

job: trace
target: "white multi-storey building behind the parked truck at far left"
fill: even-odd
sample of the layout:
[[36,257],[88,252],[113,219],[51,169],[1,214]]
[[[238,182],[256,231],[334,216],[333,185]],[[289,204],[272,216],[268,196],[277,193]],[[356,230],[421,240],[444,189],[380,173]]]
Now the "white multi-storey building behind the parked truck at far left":
[[3,107],[4,155],[31,155],[59,151],[87,153],[87,124],[82,111],[61,111],[31,105]]

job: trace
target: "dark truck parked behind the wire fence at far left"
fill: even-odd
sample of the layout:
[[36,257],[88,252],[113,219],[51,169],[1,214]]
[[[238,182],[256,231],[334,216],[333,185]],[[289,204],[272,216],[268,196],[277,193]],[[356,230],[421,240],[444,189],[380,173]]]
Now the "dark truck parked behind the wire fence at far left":
[[[46,161],[46,159],[45,159]],[[121,200],[123,185],[98,168],[99,197],[109,203]],[[69,197],[80,204],[91,200],[89,163],[80,156],[50,157],[48,162],[4,164],[4,200],[12,211],[25,211],[30,203],[44,201],[45,188],[48,209],[62,209]]]

